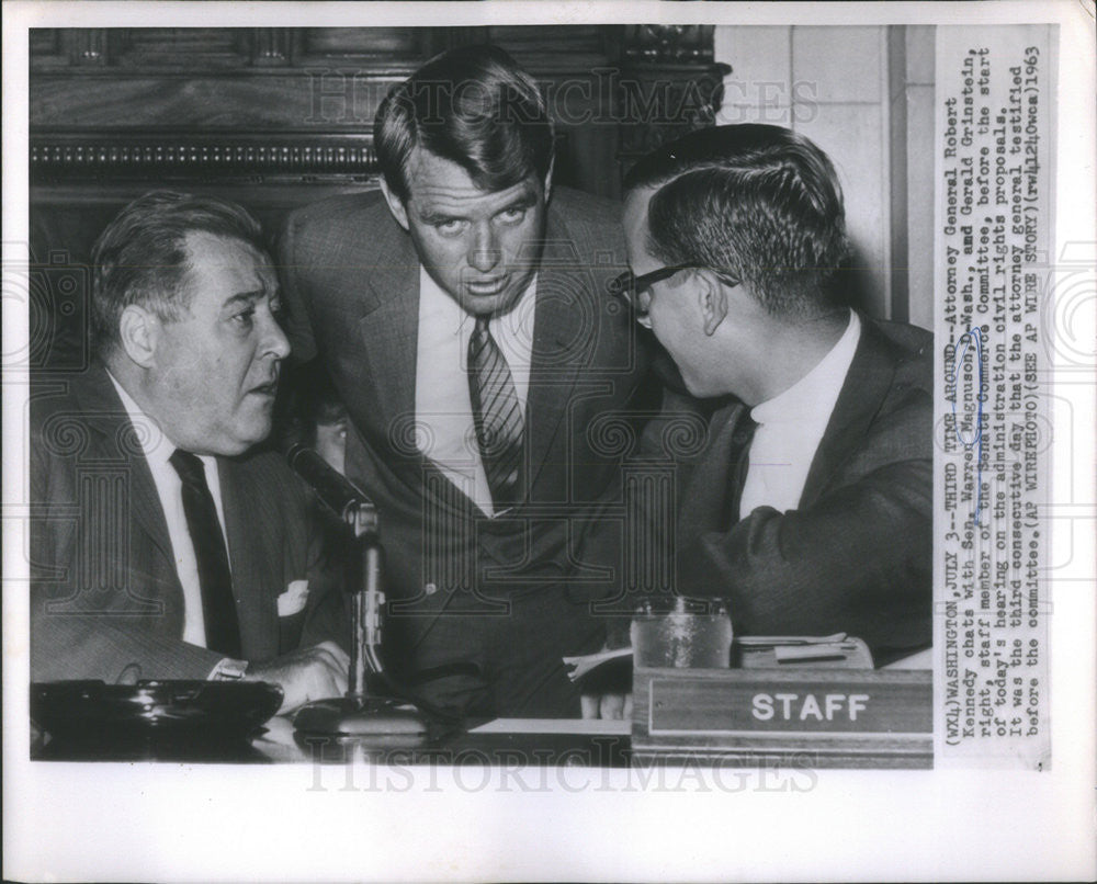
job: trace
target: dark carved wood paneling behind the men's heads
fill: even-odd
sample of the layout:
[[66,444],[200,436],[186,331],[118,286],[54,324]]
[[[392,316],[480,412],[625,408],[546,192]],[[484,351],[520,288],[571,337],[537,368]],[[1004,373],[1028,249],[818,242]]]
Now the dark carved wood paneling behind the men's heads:
[[[626,165],[711,123],[728,66],[702,25],[39,29],[31,32],[32,362],[80,359],[80,308],[48,284],[88,277],[110,217],[154,188],[215,192],[275,230],[290,208],[375,185],[373,117],[434,54],[495,43],[542,86],[556,181],[620,194]],[[82,285],[82,283],[80,283]],[[66,296],[67,297],[67,296]]]

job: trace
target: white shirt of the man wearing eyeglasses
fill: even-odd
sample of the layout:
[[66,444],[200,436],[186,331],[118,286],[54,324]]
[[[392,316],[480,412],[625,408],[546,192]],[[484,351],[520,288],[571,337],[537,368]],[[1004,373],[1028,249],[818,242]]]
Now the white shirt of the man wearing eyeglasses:
[[750,409],[758,428],[739,498],[740,519],[758,507],[787,512],[800,506],[815,450],[826,432],[860,338],[861,320],[850,310],[846,331],[814,369],[784,393]]

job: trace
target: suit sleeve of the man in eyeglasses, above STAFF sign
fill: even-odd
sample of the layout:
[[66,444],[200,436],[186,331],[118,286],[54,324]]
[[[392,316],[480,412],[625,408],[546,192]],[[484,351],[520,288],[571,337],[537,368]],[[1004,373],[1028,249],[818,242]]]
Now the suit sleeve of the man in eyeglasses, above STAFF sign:
[[759,507],[726,531],[682,537],[679,590],[727,599],[737,632],[848,632],[878,656],[928,645],[931,404],[878,420],[808,507]]

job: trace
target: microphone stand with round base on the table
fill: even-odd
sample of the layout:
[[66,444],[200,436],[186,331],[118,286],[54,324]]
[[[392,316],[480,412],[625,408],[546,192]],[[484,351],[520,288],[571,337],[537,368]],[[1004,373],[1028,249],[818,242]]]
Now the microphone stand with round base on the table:
[[402,700],[371,696],[369,675],[383,675],[381,661],[381,589],[383,547],[376,508],[361,499],[350,500],[336,513],[353,532],[354,558],[361,565],[359,587],[351,597],[351,661],[347,694],[302,706],[293,717],[302,735],[331,737],[363,748],[414,748],[427,741],[427,722],[414,705]]

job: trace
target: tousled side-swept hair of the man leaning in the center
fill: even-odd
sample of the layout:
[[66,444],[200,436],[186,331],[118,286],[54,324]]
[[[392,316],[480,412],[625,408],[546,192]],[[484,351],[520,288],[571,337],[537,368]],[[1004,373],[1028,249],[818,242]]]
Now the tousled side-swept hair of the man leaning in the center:
[[497,46],[434,56],[393,87],[373,124],[388,189],[410,196],[407,165],[417,147],[457,163],[476,186],[506,190],[552,168],[553,125],[536,82]]

